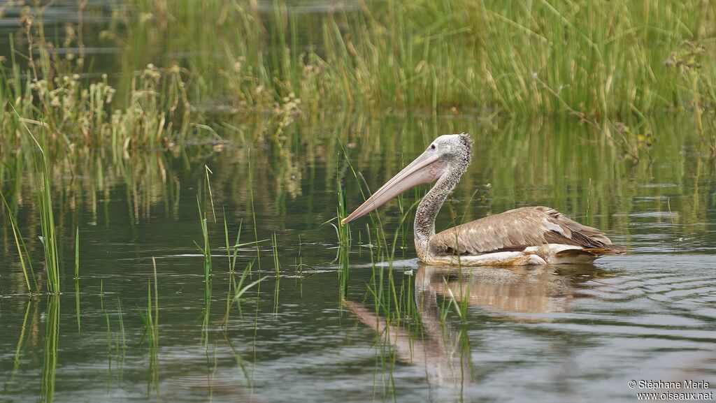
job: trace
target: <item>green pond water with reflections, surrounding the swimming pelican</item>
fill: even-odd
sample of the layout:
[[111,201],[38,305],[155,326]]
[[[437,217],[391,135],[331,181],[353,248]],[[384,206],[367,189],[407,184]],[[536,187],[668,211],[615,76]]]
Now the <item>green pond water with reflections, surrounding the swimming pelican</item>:
[[[107,29],[117,5],[90,5],[86,29]],[[73,6],[60,1],[47,18],[75,15]],[[85,40],[87,54],[100,55],[93,74],[115,72],[117,59],[102,54],[126,49]],[[154,43],[123,53],[137,54],[126,64],[182,59],[157,54],[163,48]],[[226,109],[203,100],[209,106],[200,108]],[[0,401],[633,402],[651,391],[629,389],[632,379],[706,380],[711,389],[692,392],[714,390],[716,164],[692,120],[630,122],[638,163],[572,119],[325,112],[305,115],[273,140],[253,140],[272,138],[262,117],[216,115],[204,123],[223,140],[57,156],[59,297],[26,295],[0,210]],[[421,266],[410,206],[425,187],[379,210],[382,246],[395,245],[392,263],[384,247],[370,247],[379,242],[367,218],[352,223],[349,248],[339,244],[326,224],[337,214],[339,184],[349,210],[363,200],[348,162],[375,190],[434,137],[454,132],[470,133],[475,157],[438,229],[549,205],[601,228],[630,253],[589,266]],[[633,135],[647,132],[644,141]],[[0,151],[6,167],[34,152]],[[205,166],[213,172],[216,223],[202,190]],[[30,171],[12,171],[19,175],[1,185],[12,190],[44,284]],[[195,246],[203,244],[200,193],[213,254],[208,282]],[[237,271],[253,264],[251,281],[266,279],[231,306],[222,326],[230,279],[224,216],[232,241],[241,228],[242,242],[275,234],[276,248],[271,241],[241,248]],[[140,314],[153,287],[152,258],[155,365]]]

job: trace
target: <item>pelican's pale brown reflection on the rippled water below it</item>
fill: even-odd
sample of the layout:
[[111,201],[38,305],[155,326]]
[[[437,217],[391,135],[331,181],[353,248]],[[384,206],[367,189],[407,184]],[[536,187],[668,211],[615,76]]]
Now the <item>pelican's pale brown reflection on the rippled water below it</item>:
[[[384,343],[395,349],[397,359],[412,364],[424,373],[429,384],[443,392],[463,393],[473,382],[475,369],[470,358],[466,329],[453,329],[444,320],[450,303],[488,309],[508,320],[549,321],[539,314],[569,310],[569,303],[581,295],[581,283],[590,281],[599,272],[594,266],[571,265],[559,268],[450,268],[420,265],[415,273],[415,307],[420,329],[378,316],[375,309],[353,301],[345,306],[366,326],[377,331]],[[412,323],[413,321],[411,321]],[[478,360],[479,361],[479,360]]]

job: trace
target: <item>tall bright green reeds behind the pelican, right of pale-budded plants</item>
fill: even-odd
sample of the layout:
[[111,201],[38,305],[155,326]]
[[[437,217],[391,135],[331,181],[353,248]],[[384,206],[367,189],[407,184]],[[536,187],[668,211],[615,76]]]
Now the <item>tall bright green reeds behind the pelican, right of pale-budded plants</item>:
[[200,92],[228,83],[239,110],[291,99],[304,110],[523,116],[714,107],[716,10],[700,0],[389,0],[317,16],[284,1],[263,12],[238,1],[169,10],[137,3],[159,21],[136,27],[137,37],[168,34],[175,39],[161,45],[173,50],[209,44],[211,52],[188,60],[204,78]]

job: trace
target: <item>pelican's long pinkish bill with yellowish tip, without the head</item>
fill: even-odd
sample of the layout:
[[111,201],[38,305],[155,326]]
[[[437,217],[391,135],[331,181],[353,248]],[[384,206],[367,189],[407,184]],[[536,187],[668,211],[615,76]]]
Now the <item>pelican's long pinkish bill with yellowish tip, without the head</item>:
[[438,155],[435,153],[423,152],[419,157],[415,158],[415,161],[410,162],[410,165],[403,168],[400,173],[392,177],[385,185],[378,190],[365,203],[360,205],[353,213],[350,213],[348,217],[341,220],[341,224],[350,223],[352,220],[361,218],[362,216],[370,213],[371,211],[379,208],[388,201],[395,198],[400,193],[405,192],[410,188],[414,188],[417,185],[423,183],[432,183],[440,178],[442,173],[445,173],[445,169],[448,165],[440,160]]

